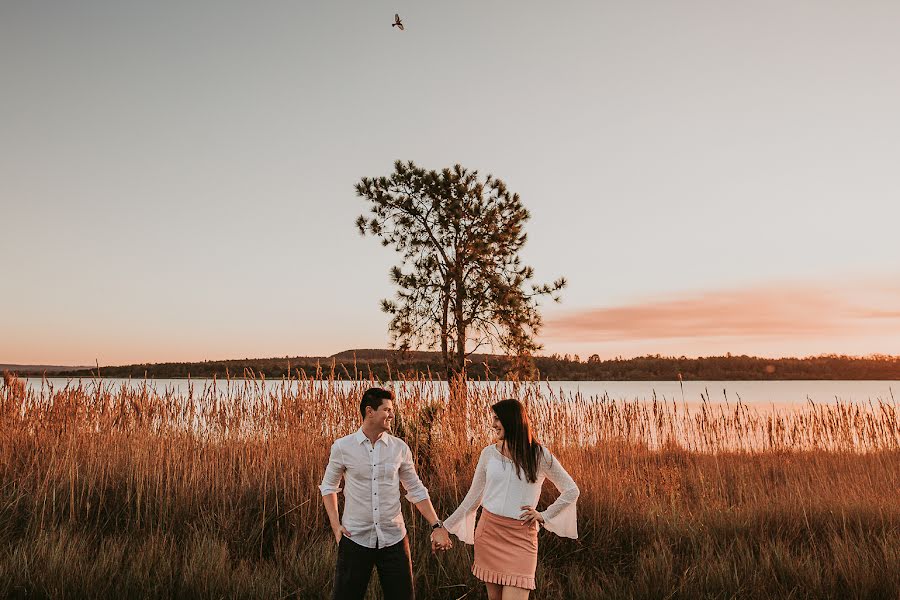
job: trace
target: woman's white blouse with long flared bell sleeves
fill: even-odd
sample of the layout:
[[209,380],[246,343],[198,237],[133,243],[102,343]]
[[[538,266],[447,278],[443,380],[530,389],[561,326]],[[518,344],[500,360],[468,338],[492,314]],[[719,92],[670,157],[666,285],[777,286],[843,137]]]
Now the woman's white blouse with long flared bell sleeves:
[[503,456],[494,444],[481,451],[472,487],[456,511],[447,517],[444,526],[447,531],[467,544],[475,543],[475,512],[479,506],[502,517],[519,519],[523,506],[536,506],[541,495],[544,479],[549,479],[559,490],[559,498],[539,514],[544,518],[544,527],[556,535],[569,538],[578,537],[578,522],[575,501],[578,486],[546,448],[538,464],[537,481],[530,483],[516,475],[516,466]]

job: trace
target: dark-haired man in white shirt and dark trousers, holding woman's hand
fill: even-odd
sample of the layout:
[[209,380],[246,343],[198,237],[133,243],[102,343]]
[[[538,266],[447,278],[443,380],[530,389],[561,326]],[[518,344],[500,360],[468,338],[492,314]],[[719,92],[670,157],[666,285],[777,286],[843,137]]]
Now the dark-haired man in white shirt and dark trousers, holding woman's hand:
[[[381,388],[363,394],[362,427],[331,446],[322,478],[322,501],[338,544],[334,600],[361,600],[372,567],[387,600],[415,598],[409,538],[400,510],[400,486],[432,527],[432,551],[452,545],[431,505],[406,442],[388,433],[394,421],[394,395]],[[344,478],[344,518],[338,516],[337,493]]]

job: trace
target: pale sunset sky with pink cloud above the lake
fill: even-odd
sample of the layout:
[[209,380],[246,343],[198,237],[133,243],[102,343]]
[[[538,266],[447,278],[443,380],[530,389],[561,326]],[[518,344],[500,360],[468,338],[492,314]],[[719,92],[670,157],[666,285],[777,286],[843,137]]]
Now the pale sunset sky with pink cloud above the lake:
[[[392,28],[400,13],[405,31]],[[387,347],[353,185],[492,173],[544,353],[900,354],[900,4],[0,2],[0,363]]]

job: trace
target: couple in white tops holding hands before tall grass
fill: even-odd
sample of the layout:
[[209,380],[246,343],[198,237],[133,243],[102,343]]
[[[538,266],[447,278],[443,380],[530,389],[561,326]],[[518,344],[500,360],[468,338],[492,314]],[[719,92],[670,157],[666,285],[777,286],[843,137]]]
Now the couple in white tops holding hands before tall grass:
[[[537,534],[578,537],[578,486],[549,450],[534,439],[525,407],[502,400],[491,407],[497,442],[481,451],[472,485],[456,511],[441,521],[413,464],[409,446],[390,435],[394,396],[367,390],[359,405],[362,427],[331,446],[322,500],[338,544],[335,600],[361,600],[372,569],[378,570],[387,600],[415,598],[409,538],[400,510],[400,487],[431,524],[432,550],[447,550],[452,533],[475,545],[472,574],[487,586],[490,600],[527,599],[534,589]],[[344,480],[344,514],[337,494]],[[541,485],[549,479],[559,497],[537,510]],[[475,515],[481,506],[481,518]]]

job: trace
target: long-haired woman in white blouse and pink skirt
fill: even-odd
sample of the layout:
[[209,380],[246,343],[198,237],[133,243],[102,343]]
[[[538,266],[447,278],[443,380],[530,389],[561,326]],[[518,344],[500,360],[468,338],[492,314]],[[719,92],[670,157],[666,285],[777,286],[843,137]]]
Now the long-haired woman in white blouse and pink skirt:
[[[540,526],[559,536],[578,537],[579,491],[559,461],[532,437],[521,402],[501,400],[491,410],[498,441],[481,451],[472,487],[444,526],[463,542],[475,544],[472,574],[485,582],[490,600],[523,600],[535,587]],[[545,478],[560,495],[538,511]]]

